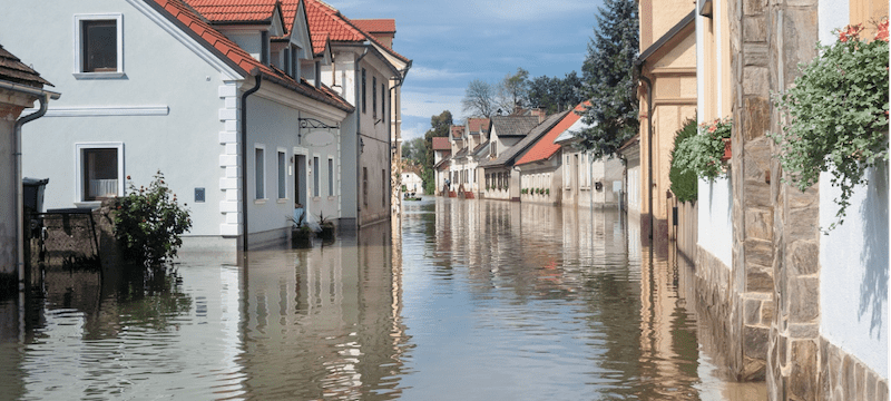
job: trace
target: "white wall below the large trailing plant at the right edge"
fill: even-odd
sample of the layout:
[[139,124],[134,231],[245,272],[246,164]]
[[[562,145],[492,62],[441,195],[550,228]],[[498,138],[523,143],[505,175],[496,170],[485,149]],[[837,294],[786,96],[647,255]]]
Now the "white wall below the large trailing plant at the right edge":
[[[841,190],[820,176],[820,227],[836,221]],[[889,170],[871,169],[844,224],[820,236],[821,334],[889,379]]]

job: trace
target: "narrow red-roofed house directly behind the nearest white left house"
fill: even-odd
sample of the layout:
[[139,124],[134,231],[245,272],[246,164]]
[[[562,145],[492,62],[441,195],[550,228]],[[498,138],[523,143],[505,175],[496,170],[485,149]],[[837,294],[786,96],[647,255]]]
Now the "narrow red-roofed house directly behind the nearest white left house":
[[334,61],[321,66],[319,79],[356,106],[341,130],[341,151],[351,155],[341,166],[341,218],[360,228],[386,221],[399,180],[391,174],[399,148],[399,87],[411,60],[390,48],[385,32],[379,32],[381,41],[359,28],[368,23],[356,25],[325,2],[305,1],[314,38],[330,38],[333,52]]

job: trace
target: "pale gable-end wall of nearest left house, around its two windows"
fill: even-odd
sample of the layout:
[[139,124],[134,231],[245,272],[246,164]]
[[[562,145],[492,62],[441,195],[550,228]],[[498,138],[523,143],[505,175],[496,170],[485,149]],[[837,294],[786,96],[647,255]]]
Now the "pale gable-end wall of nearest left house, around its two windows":
[[[92,12],[124,16],[124,78],[72,75],[72,16]],[[224,196],[219,155],[225,151],[219,143],[225,130],[219,119],[222,74],[125,1],[55,1],[40,13],[17,14],[0,23],[0,38],[9,38],[3,47],[33,65],[55,85],[50,89],[63,94],[50,104],[47,116],[22,129],[23,174],[50,179],[45,208],[75,206],[76,143],[120,141],[125,176],[137,186],[147,185],[161,169],[178,200],[188,203],[194,222],[188,235],[219,235]],[[96,110],[97,106],[105,109]],[[62,117],[61,111],[72,117]],[[196,187],[206,188],[205,203],[194,202]]]

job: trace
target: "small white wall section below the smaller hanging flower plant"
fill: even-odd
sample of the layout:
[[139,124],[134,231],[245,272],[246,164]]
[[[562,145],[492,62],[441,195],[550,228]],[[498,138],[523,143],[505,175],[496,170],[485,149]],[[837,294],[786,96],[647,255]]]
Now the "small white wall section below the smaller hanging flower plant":
[[733,266],[733,195],[730,178],[699,179],[698,244]]

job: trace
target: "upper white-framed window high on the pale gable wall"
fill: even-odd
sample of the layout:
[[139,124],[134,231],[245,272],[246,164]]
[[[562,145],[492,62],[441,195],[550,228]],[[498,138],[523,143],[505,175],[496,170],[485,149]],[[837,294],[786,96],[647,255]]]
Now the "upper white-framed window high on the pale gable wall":
[[124,76],[124,17],[120,13],[75,16],[75,76]]

